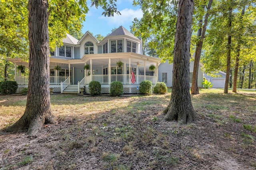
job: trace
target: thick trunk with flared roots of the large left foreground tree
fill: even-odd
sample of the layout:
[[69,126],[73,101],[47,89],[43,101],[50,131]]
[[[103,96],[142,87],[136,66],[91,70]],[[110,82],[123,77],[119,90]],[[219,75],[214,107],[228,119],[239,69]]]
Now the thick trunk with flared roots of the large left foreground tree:
[[48,1],[28,1],[29,37],[29,81],[26,109],[22,117],[7,131],[20,131],[28,128],[33,135],[44,123],[55,123],[50,105],[50,61],[48,37]]

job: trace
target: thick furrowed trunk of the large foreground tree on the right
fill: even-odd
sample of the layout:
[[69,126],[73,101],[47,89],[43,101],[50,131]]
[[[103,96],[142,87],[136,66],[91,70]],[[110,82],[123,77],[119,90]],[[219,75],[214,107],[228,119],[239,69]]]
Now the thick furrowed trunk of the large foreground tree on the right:
[[[194,2],[179,0],[176,23],[174,59],[172,73],[172,94],[165,109],[166,120],[190,123],[196,117],[189,92],[190,39]],[[182,84],[182,86],[181,86]]]

